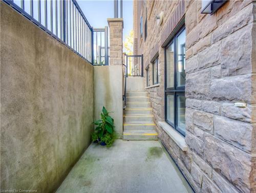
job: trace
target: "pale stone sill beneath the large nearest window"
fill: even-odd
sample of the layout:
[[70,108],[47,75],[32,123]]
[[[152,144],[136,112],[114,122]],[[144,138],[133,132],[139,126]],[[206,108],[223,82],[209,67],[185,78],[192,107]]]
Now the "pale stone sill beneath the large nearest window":
[[158,124],[168,134],[168,136],[174,140],[174,142],[181,148],[183,152],[187,151],[188,146],[185,142],[185,138],[181,136],[181,134],[179,134],[172,126],[166,122],[159,121]]

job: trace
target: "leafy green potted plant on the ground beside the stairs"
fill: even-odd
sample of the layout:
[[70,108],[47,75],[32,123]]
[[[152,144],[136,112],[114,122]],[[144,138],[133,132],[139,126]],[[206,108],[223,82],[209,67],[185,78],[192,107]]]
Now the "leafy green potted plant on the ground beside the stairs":
[[95,131],[92,134],[92,140],[94,142],[99,142],[100,145],[106,145],[110,147],[115,138],[114,131],[114,119],[109,115],[112,112],[106,111],[106,109],[102,108],[101,119],[94,121],[96,125]]

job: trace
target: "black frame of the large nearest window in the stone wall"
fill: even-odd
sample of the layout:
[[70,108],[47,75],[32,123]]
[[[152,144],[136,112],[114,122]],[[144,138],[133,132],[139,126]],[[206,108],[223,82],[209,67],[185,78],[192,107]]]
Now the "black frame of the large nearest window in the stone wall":
[[[177,62],[177,37],[185,30],[185,25],[183,25],[179,31],[174,35],[174,37],[169,41],[169,43],[164,48],[164,116],[165,122],[173,126],[176,131],[181,135],[185,136],[186,133],[182,128],[178,127],[178,96],[185,96],[185,86],[178,87],[178,62]],[[167,55],[166,50],[170,45],[174,44],[174,85],[173,87],[167,88]],[[174,96],[174,123],[167,120],[167,95]]]

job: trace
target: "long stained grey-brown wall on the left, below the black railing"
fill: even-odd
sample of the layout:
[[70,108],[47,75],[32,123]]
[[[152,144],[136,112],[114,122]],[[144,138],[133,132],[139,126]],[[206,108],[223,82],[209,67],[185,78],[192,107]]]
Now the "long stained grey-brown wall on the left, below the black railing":
[[93,66],[1,2],[1,189],[54,191],[93,116]]

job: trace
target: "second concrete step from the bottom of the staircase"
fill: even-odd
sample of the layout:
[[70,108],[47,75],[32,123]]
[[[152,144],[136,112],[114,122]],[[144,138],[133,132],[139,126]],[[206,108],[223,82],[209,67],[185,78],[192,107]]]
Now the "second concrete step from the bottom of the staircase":
[[123,123],[124,131],[156,131],[154,122],[133,121]]

